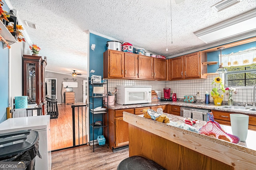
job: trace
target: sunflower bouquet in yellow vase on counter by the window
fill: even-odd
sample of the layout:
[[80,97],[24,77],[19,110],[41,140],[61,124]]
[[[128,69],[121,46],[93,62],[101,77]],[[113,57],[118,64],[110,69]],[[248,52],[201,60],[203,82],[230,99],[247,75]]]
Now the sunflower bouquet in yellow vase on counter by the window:
[[214,88],[212,88],[211,96],[214,100],[214,105],[221,105],[224,96],[222,92],[225,92],[224,84],[222,84],[222,78],[219,76],[214,78],[212,84],[214,84]]

